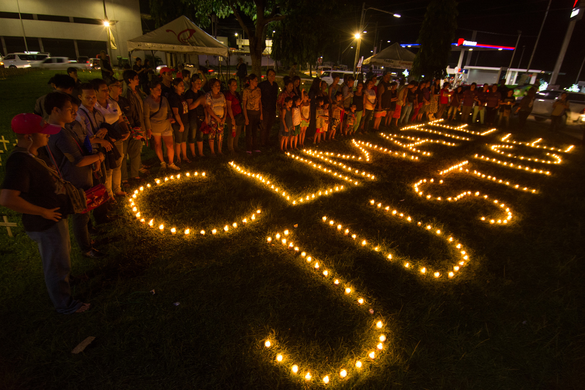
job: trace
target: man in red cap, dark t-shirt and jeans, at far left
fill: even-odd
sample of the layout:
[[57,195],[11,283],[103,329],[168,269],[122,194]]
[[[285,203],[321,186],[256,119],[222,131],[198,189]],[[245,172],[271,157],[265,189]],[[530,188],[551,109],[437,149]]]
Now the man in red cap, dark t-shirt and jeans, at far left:
[[[61,110],[51,108],[51,111],[53,109]],[[51,301],[58,313],[72,314],[84,312],[90,304],[71,296],[71,243],[67,224],[70,201],[56,172],[39,158],[39,148],[46,146],[49,136],[60,130],[61,126],[49,125],[32,113],[19,114],[12,119],[12,131],[16,133],[18,144],[6,161],[0,205],[22,213],[26,234],[39,246]]]

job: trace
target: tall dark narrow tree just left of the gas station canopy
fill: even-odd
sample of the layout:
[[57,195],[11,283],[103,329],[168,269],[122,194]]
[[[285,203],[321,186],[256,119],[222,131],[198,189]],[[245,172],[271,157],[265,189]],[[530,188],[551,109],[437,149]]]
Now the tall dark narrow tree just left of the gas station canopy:
[[421,46],[414,58],[412,73],[427,77],[445,76],[457,29],[457,15],[456,0],[431,0],[418,34],[417,42]]

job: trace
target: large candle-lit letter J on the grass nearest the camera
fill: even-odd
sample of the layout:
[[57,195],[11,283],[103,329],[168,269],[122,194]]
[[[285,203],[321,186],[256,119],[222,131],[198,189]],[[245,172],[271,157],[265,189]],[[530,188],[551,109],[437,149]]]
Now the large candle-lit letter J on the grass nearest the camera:
[[[297,257],[300,264],[311,270],[315,278],[321,278],[328,283],[333,291],[338,291],[338,294],[343,295],[344,299],[347,299],[357,310],[364,310],[369,315],[374,314],[374,309],[370,302],[367,302],[362,295],[358,294],[355,288],[352,287],[352,284],[344,281],[342,277],[337,275],[323,261],[316,259],[302,249],[297,250],[299,246],[297,243],[290,241],[292,240],[292,234],[288,230],[284,230],[283,233],[277,232],[274,234],[274,238],[273,240],[272,236],[266,237],[266,243],[276,249],[281,248],[281,250],[286,250],[287,253]],[[291,247],[294,247],[295,250],[290,251]],[[366,331],[370,333],[370,339],[373,340],[372,345],[370,347],[364,346],[360,348],[351,357],[345,359],[347,361],[346,365],[326,372],[318,372],[319,370],[311,367],[311,363],[296,361],[294,358],[295,354],[290,353],[290,348],[279,343],[273,335],[261,340],[260,345],[269,354],[274,364],[282,367],[284,371],[290,373],[298,381],[335,385],[348,378],[362,374],[365,372],[366,365],[370,361],[380,358],[380,354],[383,354],[384,350],[387,349],[384,344],[388,340],[385,329],[386,323],[384,320],[380,319],[380,317],[373,319],[370,329]]]

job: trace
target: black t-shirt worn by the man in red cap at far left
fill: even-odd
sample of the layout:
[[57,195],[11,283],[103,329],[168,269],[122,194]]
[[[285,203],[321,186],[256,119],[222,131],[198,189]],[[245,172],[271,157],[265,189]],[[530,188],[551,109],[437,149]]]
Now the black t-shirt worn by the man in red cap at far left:
[[[24,152],[24,153],[23,153]],[[20,198],[46,209],[60,207],[57,212],[61,218],[65,214],[69,200],[64,188],[51,174],[43,160],[33,157],[23,147],[15,147],[6,161],[6,175],[2,189],[20,191]],[[22,224],[27,232],[43,232],[56,222],[40,215],[23,214]]]

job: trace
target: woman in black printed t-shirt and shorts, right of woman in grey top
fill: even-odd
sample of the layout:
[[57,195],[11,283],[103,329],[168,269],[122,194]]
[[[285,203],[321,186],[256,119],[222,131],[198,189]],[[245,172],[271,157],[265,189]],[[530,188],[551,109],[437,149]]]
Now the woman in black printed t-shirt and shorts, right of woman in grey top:
[[183,161],[191,163],[187,158],[187,139],[189,137],[189,105],[183,96],[185,92],[185,85],[183,80],[176,78],[171,83],[173,85],[173,92],[168,95],[168,105],[173,110],[173,118],[175,123],[173,133],[175,135],[175,156],[177,156],[177,164],[181,163],[181,153],[183,153]]

